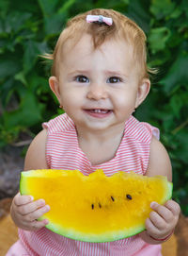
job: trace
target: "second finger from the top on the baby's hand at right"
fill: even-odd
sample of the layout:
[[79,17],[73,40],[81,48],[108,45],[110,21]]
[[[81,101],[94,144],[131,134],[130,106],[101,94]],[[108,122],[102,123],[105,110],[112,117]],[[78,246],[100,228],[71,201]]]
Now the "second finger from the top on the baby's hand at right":
[[150,204],[150,207],[156,211],[162,218],[164,218],[164,221],[167,223],[170,223],[173,219],[173,213],[166,208],[164,205],[158,204],[156,202],[152,202]]

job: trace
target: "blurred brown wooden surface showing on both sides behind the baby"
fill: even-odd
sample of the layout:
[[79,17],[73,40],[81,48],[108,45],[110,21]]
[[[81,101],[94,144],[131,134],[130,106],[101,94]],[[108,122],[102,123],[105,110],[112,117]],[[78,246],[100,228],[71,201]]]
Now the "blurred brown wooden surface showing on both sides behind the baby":
[[[5,256],[18,239],[17,228],[9,215],[10,204],[11,198],[0,200],[0,256]],[[162,247],[163,256],[188,256],[188,218],[180,215],[175,233]]]

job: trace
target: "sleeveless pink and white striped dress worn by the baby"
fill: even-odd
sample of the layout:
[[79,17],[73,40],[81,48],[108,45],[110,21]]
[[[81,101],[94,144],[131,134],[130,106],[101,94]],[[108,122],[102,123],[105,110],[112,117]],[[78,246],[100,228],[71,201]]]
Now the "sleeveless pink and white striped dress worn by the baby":
[[[151,136],[159,139],[159,130],[141,123],[133,116],[125,123],[124,135],[116,156],[99,165],[91,165],[78,145],[75,126],[67,114],[43,124],[48,129],[46,160],[51,169],[79,169],[88,175],[102,168],[107,176],[119,170],[144,175],[149,164]],[[161,245],[145,243],[139,234],[109,243],[75,241],[42,228],[37,231],[19,230],[19,241],[7,256],[161,256]]]

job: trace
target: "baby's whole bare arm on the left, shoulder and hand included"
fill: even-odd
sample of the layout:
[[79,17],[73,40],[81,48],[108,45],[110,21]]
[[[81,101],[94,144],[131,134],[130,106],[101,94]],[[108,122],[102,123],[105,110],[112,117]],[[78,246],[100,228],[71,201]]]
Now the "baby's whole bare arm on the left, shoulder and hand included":
[[[26,153],[24,170],[35,170],[48,168],[45,160],[45,145],[47,132],[42,130],[35,137]],[[41,198],[34,201],[31,196],[14,196],[10,207],[10,214],[14,223],[23,230],[39,230],[48,224],[48,220],[37,221],[37,219],[50,210]]]

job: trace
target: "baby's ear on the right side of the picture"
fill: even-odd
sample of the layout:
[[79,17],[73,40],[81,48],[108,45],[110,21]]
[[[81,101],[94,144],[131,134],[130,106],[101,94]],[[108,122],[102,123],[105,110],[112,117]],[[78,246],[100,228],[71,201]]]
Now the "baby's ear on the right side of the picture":
[[144,78],[138,85],[138,91],[135,101],[135,109],[145,100],[150,90],[150,81],[148,78]]

